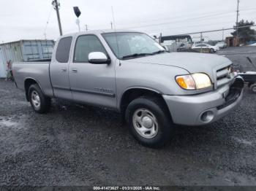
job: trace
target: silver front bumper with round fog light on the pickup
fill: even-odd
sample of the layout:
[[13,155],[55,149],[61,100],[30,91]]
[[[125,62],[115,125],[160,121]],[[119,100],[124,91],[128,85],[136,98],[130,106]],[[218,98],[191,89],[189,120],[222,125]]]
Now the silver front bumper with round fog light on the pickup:
[[198,95],[163,95],[173,122],[179,125],[206,125],[236,108],[243,97],[244,81],[236,77],[232,85]]

